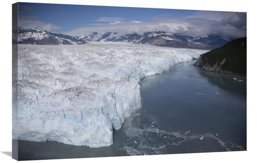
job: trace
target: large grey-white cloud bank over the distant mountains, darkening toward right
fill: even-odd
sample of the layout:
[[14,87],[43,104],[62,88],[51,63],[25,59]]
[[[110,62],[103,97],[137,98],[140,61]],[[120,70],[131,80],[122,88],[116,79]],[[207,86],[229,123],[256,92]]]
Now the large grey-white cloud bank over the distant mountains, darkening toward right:
[[[152,17],[152,22],[124,22],[124,18],[101,17],[97,21],[108,22],[98,27],[78,28],[65,34],[82,36],[93,32],[119,32],[121,34],[166,31],[181,35],[221,35],[226,37],[246,36],[246,13],[197,11],[187,17]],[[111,22],[111,23],[110,23]]]

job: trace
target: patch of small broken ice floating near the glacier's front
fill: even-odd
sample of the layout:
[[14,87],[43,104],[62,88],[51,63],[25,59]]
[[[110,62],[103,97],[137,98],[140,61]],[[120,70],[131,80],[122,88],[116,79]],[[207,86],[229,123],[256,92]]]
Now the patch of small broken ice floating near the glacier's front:
[[[206,139],[207,141],[211,139],[217,140],[218,144],[226,149],[226,151],[233,151],[233,150],[239,150],[244,151],[245,149],[241,146],[238,146],[232,142],[224,142],[223,140],[215,137],[213,134],[206,133],[206,134],[193,134],[193,135],[185,135],[182,132],[178,131],[165,131],[165,130],[159,130],[158,128],[152,128],[148,125],[140,125],[134,126],[132,121],[134,119],[134,116],[136,117],[136,114],[134,115],[132,113],[131,117],[126,118],[126,121],[124,123],[124,132],[126,136],[130,137],[131,140],[137,139],[138,146],[133,146],[130,141],[123,142],[123,147],[120,147],[120,150],[126,151],[129,155],[153,155],[153,154],[168,154],[169,150],[173,147],[171,146],[179,146],[181,144],[184,144],[188,141],[192,141],[193,139]],[[149,117],[149,120],[153,120],[155,117],[152,115],[147,115]],[[157,121],[158,123],[158,121]],[[187,131],[189,132],[189,131]],[[163,136],[161,135],[166,134],[169,136]],[[160,136],[157,136],[160,135]],[[169,138],[171,137],[171,138]],[[164,142],[163,139],[165,138]],[[161,141],[159,141],[161,140]],[[134,142],[133,140],[132,142]],[[206,143],[203,142],[204,144]],[[208,148],[208,147],[207,147]],[[216,146],[214,147],[216,148]]]

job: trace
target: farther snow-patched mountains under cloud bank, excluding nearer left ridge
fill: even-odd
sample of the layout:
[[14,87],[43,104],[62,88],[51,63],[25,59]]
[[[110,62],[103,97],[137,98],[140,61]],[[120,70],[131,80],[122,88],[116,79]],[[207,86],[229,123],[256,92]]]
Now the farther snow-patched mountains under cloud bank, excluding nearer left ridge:
[[158,31],[124,35],[117,32],[106,32],[104,34],[95,32],[92,35],[83,35],[82,39],[86,42],[125,42],[180,48],[208,48],[208,46],[209,48],[215,48],[223,46],[234,38],[213,35],[192,37]]

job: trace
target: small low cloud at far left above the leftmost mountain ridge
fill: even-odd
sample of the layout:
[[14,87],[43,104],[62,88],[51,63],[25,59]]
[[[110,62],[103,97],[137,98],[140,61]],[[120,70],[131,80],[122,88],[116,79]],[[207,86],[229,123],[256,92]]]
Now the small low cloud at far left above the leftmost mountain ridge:
[[49,32],[53,32],[61,29],[61,27],[53,25],[51,23],[44,23],[41,21],[37,21],[36,18],[37,17],[35,16],[20,16],[19,27],[38,28],[43,31],[49,31]]

